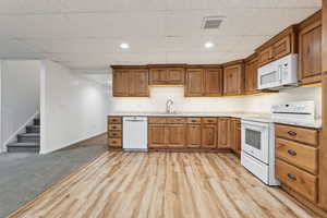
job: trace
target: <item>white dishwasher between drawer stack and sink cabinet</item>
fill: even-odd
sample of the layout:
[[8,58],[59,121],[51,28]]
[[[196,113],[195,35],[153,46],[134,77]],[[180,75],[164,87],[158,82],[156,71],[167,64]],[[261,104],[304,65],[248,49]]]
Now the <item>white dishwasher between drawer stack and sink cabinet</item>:
[[123,149],[147,152],[147,117],[123,118]]

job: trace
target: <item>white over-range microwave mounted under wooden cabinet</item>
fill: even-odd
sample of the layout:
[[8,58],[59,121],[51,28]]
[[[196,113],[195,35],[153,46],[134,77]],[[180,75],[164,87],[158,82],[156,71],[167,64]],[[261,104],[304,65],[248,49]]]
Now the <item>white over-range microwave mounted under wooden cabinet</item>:
[[289,55],[257,71],[258,89],[281,89],[298,85],[298,55]]

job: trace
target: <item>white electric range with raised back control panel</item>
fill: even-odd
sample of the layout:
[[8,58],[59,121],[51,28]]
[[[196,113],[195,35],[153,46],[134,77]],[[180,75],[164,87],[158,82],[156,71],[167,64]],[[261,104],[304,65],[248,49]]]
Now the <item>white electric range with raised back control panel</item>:
[[279,185],[275,178],[275,122],[314,122],[314,101],[279,104],[270,118],[242,119],[241,165],[268,185]]

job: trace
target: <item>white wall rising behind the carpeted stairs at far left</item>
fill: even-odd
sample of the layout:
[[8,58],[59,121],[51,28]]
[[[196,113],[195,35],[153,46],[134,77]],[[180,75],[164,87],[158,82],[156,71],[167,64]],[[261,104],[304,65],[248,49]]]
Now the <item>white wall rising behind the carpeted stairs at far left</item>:
[[1,68],[1,147],[39,111],[40,61],[5,60]]

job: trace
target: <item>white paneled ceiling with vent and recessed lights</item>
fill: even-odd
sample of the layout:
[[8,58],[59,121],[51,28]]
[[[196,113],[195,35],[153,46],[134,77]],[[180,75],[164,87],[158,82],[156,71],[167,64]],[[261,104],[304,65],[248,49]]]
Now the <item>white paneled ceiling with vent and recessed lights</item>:
[[[47,58],[81,72],[109,64],[244,58],[320,0],[1,0],[0,58]],[[223,16],[201,29],[204,16]],[[214,48],[205,49],[206,41]],[[130,44],[122,50],[121,43]]]

